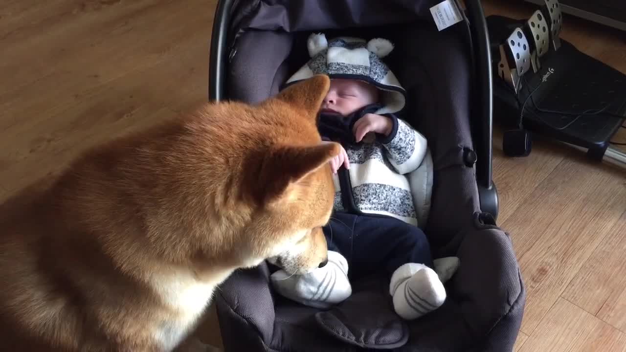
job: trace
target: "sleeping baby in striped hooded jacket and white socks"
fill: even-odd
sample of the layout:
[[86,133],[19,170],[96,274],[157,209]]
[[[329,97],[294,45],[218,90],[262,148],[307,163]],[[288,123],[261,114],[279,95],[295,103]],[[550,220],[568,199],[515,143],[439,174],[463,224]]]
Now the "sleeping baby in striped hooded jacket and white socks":
[[299,303],[328,308],[350,296],[351,280],[382,269],[396,313],[419,318],[444,303],[443,283],[459,262],[433,261],[418,227],[408,174],[423,162],[427,143],[395,115],[404,108],[405,91],[381,61],[393,45],[313,34],[308,49],[310,61],[287,84],[316,74],[331,78],[318,121],[322,139],[342,146],[331,161],[335,205],[323,229],[329,260],[305,275],[274,272],[272,286]]

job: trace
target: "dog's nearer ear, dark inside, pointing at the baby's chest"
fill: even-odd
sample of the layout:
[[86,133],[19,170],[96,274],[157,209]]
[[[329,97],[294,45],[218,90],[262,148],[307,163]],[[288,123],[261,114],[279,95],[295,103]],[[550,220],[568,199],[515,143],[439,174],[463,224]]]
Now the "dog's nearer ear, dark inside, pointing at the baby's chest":
[[257,177],[261,204],[271,205],[281,200],[294,200],[298,186],[305,182],[307,175],[324,167],[340,152],[339,144],[334,142],[270,148],[265,153]]

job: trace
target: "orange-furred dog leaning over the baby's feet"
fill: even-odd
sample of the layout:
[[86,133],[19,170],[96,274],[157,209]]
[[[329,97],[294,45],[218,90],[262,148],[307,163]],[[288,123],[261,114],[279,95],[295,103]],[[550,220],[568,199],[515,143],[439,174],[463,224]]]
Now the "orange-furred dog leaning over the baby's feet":
[[85,152],[0,210],[0,346],[196,351],[213,289],[264,259],[326,260],[328,161],[315,119],[326,76],[257,106],[208,103]]

